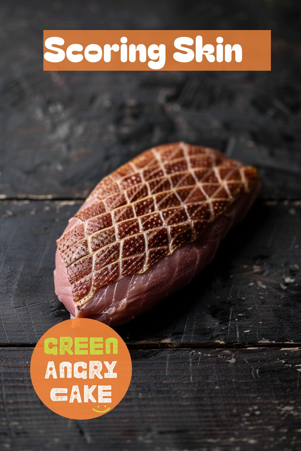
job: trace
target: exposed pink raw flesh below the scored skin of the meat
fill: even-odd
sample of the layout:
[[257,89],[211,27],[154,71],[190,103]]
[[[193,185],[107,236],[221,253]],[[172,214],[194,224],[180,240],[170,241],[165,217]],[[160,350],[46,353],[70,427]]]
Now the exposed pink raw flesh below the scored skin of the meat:
[[[93,318],[109,325],[129,321],[187,285],[213,260],[222,239],[249,211],[258,190],[259,185],[233,202],[232,206],[213,221],[196,241],[183,245],[143,274],[126,276],[101,288],[93,299],[80,309],[74,304],[67,269],[57,249],[54,272],[56,295],[70,312],[71,318]],[[81,209],[87,207],[89,203],[91,200],[87,200]],[[72,219],[66,230],[77,221]]]

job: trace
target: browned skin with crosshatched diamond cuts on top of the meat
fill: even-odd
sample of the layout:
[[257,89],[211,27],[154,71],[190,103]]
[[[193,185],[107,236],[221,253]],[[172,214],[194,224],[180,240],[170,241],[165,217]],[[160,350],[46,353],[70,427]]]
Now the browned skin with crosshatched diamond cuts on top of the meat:
[[255,168],[185,143],[154,147],[121,166],[57,241],[74,302],[85,304],[103,286],[194,241],[257,183]]

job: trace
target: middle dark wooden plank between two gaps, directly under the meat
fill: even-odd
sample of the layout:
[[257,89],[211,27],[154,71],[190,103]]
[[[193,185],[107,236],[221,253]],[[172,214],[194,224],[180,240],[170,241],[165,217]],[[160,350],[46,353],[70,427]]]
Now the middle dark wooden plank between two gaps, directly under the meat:
[[[0,202],[0,343],[36,343],[69,317],[54,293],[54,255],[80,204]],[[301,342],[300,242],[301,203],[259,200],[210,267],[118,331],[132,346]]]

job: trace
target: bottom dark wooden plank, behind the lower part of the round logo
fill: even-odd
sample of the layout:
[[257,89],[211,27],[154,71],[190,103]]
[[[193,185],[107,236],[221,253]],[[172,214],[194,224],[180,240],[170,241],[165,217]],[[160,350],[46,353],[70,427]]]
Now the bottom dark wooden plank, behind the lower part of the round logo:
[[42,404],[30,381],[31,353],[0,352],[1,449],[301,447],[300,348],[132,351],[128,393],[90,421],[60,417]]

